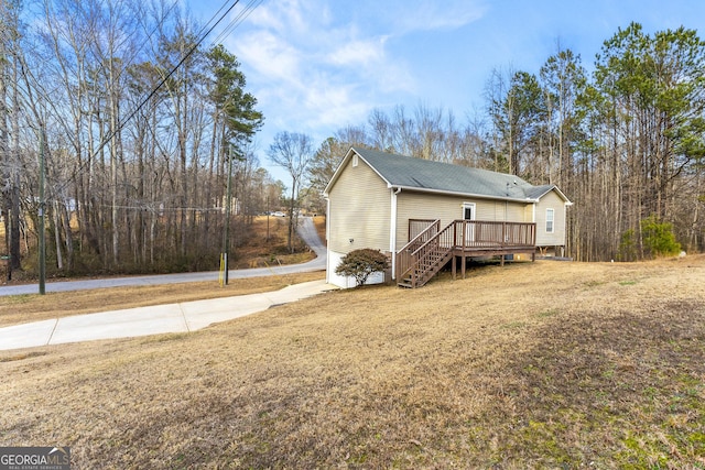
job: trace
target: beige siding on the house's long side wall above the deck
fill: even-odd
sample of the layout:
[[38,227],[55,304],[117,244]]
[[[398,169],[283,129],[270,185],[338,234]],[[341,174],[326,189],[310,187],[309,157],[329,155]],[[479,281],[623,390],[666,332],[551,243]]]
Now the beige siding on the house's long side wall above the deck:
[[463,218],[464,203],[475,204],[475,220],[531,222],[525,204],[402,190],[397,196],[397,250],[409,242],[409,219],[441,219],[444,228]]

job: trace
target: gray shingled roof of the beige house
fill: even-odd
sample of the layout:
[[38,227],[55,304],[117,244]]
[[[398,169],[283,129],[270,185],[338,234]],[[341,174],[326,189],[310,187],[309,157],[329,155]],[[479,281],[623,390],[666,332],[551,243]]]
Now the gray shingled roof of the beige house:
[[[352,151],[360,155],[391,187],[514,200],[536,200],[555,188],[554,185],[533,186],[518,176],[487,170],[361,147],[354,147]],[[567,198],[565,200],[567,201]]]

